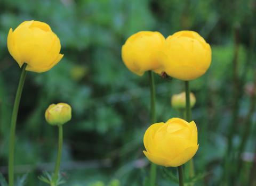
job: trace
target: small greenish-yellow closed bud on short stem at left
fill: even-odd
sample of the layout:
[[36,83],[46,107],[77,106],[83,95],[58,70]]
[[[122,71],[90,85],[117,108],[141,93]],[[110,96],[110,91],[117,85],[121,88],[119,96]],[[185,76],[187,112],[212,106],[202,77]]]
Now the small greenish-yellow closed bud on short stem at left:
[[71,107],[66,103],[51,104],[46,109],[45,120],[50,125],[63,125],[71,120]]

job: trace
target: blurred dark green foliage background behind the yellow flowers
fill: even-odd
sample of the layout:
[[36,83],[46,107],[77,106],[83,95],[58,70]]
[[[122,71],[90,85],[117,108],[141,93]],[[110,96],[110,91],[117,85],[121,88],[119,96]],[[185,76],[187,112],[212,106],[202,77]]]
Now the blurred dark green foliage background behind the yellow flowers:
[[[149,79],[147,73],[139,77],[126,69],[121,48],[129,36],[146,30],[159,31],[165,38],[193,30],[212,48],[209,70],[190,82],[197,98],[192,111],[200,144],[196,173],[207,173],[196,185],[220,185],[222,179],[237,60],[238,114],[231,142],[236,153],[250,117],[243,169],[237,178],[238,185],[247,185],[256,166],[255,113],[253,107],[248,115],[252,98],[244,91],[246,83],[253,85],[255,19],[256,1],[249,0],[0,0],[0,172],[7,178],[10,118],[21,74],[7,50],[7,34],[23,21],[37,20],[57,34],[64,57],[50,71],[27,73],[15,144],[16,175],[28,173],[27,185],[46,185],[37,176],[53,171],[58,128],[46,123],[44,113],[50,104],[60,102],[73,109],[71,121],[63,126],[61,171],[69,177],[63,185],[143,185],[149,174],[149,161],[142,153],[143,135],[150,125]],[[240,28],[237,53],[234,25]],[[183,82],[169,82],[157,74],[155,82],[157,121],[179,117],[170,98],[184,90]],[[167,182],[159,167],[157,183],[177,185]],[[175,168],[169,170],[176,174]]]

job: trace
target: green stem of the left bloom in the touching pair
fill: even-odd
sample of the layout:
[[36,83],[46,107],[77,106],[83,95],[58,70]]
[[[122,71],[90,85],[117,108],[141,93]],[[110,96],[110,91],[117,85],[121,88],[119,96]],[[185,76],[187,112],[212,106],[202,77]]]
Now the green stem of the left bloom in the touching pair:
[[[151,113],[151,124],[156,123],[156,91],[154,75],[152,71],[149,72],[149,86],[150,86],[150,113]],[[151,162],[150,167],[150,186],[154,186],[156,182],[156,164]]]

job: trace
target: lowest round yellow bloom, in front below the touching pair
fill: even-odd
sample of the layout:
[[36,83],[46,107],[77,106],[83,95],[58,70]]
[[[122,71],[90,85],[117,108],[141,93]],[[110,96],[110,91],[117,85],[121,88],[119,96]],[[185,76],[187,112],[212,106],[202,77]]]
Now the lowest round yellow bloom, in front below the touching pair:
[[147,150],[143,153],[151,162],[165,167],[177,167],[196,154],[196,124],[179,118],[155,123],[148,128],[143,141]]

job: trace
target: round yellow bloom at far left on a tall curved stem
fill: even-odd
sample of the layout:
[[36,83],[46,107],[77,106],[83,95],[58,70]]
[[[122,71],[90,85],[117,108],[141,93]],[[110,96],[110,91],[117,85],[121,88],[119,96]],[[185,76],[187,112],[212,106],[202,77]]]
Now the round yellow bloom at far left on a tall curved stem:
[[28,64],[27,71],[48,71],[63,57],[59,38],[48,24],[39,21],[25,21],[13,32],[10,29],[7,47],[20,67]]

